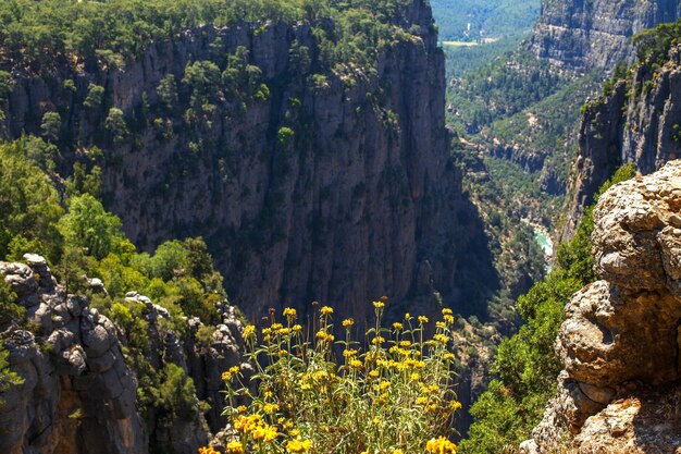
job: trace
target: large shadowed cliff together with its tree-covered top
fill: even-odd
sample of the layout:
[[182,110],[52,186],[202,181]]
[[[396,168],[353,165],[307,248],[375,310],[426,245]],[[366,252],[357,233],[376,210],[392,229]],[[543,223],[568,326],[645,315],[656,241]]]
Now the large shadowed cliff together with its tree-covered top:
[[145,250],[205,237],[251,317],[325,299],[363,319],[388,293],[437,310],[436,292],[484,314],[498,282],[448,154],[428,4],[164,7],[3,3],[5,136],[49,139],[61,175],[100,170]]

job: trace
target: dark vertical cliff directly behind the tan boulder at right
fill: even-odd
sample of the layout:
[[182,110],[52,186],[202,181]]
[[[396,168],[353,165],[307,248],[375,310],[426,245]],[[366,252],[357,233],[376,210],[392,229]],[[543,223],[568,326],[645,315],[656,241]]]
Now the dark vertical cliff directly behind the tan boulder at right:
[[[653,72],[645,64],[637,65],[629,84],[617,83],[608,96],[590,105],[580,128],[565,236],[574,230],[583,208],[619,165],[633,163],[648,174],[681,157],[677,126],[681,123],[680,65],[680,49],[673,48],[660,69]],[[628,96],[631,94],[634,96]]]

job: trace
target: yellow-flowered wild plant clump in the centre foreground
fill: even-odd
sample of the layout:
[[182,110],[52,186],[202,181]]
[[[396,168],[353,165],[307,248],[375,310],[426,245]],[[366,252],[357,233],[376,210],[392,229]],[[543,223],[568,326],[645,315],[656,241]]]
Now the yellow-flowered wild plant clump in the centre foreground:
[[[373,306],[375,324],[367,332],[352,319],[334,331],[330,306],[315,310],[312,326],[298,324],[296,310],[285,308],[283,317],[271,312],[262,330],[245,328],[260,381],[253,393],[238,367],[223,373],[232,404],[225,414],[236,429],[228,453],[456,452],[448,440],[461,405],[451,388],[451,310],[438,321],[407,314],[386,328],[386,299]],[[333,332],[344,335],[335,341]],[[343,355],[333,354],[334,344]],[[250,405],[236,406],[238,396]]]

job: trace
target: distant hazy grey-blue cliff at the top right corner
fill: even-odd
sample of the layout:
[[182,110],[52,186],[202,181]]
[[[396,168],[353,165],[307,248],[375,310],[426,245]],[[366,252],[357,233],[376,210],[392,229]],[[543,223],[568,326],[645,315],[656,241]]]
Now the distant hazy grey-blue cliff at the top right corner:
[[611,71],[633,61],[629,38],[681,16],[674,0],[544,0],[530,48],[552,65],[569,72]]

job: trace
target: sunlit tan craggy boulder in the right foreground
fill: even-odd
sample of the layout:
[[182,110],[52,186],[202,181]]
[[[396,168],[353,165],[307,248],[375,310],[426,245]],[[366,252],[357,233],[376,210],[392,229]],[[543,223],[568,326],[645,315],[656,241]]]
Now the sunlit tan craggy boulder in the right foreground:
[[602,280],[566,308],[558,395],[527,453],[681,452],[680,212],[681,161],[600,197],[592,241]]

